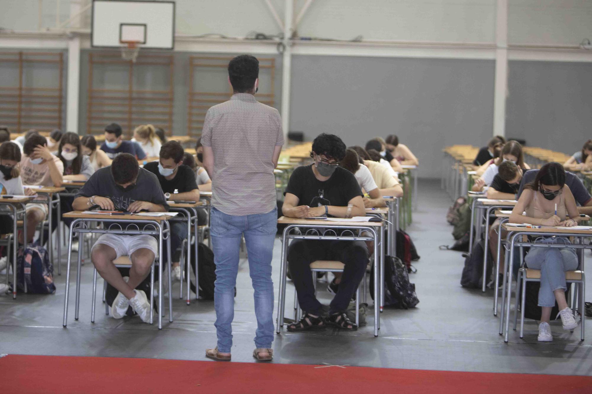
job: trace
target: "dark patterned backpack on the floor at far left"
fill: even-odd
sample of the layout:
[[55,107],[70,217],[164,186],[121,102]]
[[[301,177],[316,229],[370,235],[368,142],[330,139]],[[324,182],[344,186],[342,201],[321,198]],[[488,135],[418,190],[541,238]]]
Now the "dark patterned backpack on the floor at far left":
[[17,289],[33,294],[53,294],[53,264],[46,248],[37,244],[21,246],[17,253]]

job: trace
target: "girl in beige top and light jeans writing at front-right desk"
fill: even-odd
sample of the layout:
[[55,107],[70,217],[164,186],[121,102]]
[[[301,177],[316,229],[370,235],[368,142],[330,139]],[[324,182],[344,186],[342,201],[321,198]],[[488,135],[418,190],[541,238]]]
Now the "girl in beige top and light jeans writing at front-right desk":
[[[526,215],[522,213],[526,211]],[[556,211],[556,214],[555,214]],[[569,215],[569,219],[565,217]],[[528,183],[510,215],[510,223],[529,223],[543,226],[572,227],[578,224],[580,214],[574,196],[565,185],[565,170],[559,163],[541,167],[534,182]],[[542,234],[543,235],[543,234]],[[535,243],[570,244],[567,237],[541,237]],[[527,267],[540,270],[538,305],[542,307],[538,340],[553,340],[549,319],[555,301],[564,330],[573,330],[578,323],[565,299],[565,271],[578,267],[578,257],[570,248],[534,247],[524,259]]]

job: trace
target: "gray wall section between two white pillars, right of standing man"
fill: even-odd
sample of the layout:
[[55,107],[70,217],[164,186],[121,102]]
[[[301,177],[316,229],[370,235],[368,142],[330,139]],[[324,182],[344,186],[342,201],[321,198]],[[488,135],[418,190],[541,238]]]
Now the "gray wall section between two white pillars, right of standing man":
[[482,146],[493,130],[493,60],[294,56],[290,130],[349,145],[397,134],[437,177],[442,148]]

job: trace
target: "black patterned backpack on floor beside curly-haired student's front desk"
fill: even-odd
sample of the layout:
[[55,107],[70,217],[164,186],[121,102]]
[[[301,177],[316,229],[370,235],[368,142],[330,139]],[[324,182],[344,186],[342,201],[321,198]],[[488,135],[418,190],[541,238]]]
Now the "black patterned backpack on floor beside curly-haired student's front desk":
[[[370,273],[370,295],[374,299],[374,265]],[[407,267],[398,257],[384,256],[384,307],[409,309],[418,303],[415,284],[409,282]]]

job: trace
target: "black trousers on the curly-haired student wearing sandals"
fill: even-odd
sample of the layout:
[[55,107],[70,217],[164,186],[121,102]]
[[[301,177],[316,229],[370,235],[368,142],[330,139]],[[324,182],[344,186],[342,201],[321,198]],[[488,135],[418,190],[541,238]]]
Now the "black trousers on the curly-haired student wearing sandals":
[[345,264],[337,294],[329,313],[345,312],[368,265],[368,247],[364,241],[294,240],[288,247],[288,265],[298,294],[298,303],[305,312],[320,314],[321,303],[314,296],[310,263],[316,260],[337,260]]

